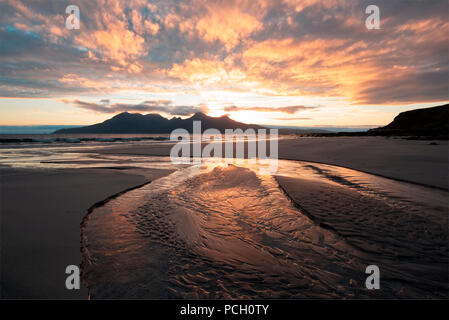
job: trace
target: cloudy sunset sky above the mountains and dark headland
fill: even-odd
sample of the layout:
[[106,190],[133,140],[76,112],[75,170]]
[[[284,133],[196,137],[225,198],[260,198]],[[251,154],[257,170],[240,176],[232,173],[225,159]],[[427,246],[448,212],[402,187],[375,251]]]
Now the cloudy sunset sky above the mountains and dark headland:
[[[368,5],[379,29],[368,29]],[[79,8],[79,29],[66,27]],[[0,125],[366,127],[449,101],[447,0],[1,0]]]

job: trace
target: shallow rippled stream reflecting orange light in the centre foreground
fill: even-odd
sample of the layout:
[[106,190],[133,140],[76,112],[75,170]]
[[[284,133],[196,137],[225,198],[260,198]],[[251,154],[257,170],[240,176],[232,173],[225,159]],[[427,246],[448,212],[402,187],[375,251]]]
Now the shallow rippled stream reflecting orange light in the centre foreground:
[[340,264],[342,240],[298,215],[272,178],[235,166],[184,171],[91,214],[92,298],[336,298],[357,276]]

